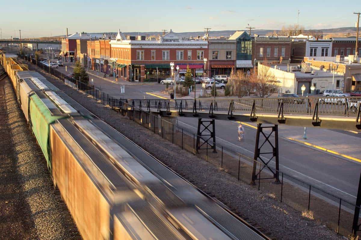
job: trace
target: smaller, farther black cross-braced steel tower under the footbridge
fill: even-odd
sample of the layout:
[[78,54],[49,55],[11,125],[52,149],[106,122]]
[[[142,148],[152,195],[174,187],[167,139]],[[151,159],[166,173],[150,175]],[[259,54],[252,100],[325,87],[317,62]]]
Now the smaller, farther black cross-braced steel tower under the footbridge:
[[[206,123],[206,124],[204,124]],[[203,126],[203,130],[201,130],[201,127]],[[212,127],[212,128],[211,128]],[[205,132],[207,131],[207,132]],[[205,134],[208,133],[209,134]],[[202,139],[203,143],[200,143],[200,140]],[[212,143],[209,143],[209,140],[212,139]],[[206,144],[206,148],[201,148],[204,144]],[[210,146],[210,148],[208,148]],[[197,144],[196,144],[196,152],[198,153],[198,150],[202,149],[213,149],[213,153],[217,153],[216,151],[216,124],[214,122],[214,119],[203,121],[202,118],[198,118],[198,130],[197,130]]]

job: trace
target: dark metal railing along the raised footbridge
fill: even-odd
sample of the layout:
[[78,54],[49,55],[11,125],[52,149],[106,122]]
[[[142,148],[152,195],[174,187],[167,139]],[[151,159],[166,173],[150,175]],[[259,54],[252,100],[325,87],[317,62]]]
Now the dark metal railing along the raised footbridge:
[[[192,110],[194,99],[128,99],[134,106],[147,106],[150,108]],[[182,104],[181,104],[182,103]],[[197,99],[197,110],[209,110],[212,104],[214,111],[227,111],[230,105],[233,111],[251,112],[255,106],[257,113],[279,112],[282,105],[283,114],[312,115],[317,110],[318,114],[327,116],[356,116],[360,107],[361,97],[299,97],[299,98],[217,98]]]

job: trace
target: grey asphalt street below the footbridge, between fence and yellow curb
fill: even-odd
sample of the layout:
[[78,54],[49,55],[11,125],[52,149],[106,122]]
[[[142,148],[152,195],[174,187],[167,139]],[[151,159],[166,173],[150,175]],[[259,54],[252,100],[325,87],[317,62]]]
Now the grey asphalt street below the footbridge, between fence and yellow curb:
[[[192,132],[197,131],[197,119],[195,118],[179,117],[178,123],[179,126]],[[233,121],[216,120],[217,142],[253,158],[256,130],[244,126],[245,142],[239,142],[238,125],[239,123]],[[296,127],[279,125],[280,171],[318,186],[352,203],[355,202],[361,164],[285,139],[282,132],[287,132],[289,128]],[[303,133],[303,128],[298,128],[300,133]],[[340,137],[340,135],[342,133],[335,132],[335,137]],[[347,135],[342,137],[347,137]],[[265,146],[265,151],[271,150],[269,145]]]

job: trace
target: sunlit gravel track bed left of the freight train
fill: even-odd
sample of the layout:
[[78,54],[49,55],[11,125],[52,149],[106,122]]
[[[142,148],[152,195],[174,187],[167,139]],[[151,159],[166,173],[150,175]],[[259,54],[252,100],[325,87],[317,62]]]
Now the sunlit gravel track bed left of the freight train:
[[7,78],[0,133],[0,239],[81,239]]

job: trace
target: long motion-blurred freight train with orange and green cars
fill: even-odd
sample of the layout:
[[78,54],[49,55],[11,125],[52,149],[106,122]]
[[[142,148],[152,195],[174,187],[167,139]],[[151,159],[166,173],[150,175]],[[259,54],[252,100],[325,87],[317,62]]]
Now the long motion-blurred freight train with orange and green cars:
[[83,239],[269,239],[16,55],[0,63]]

